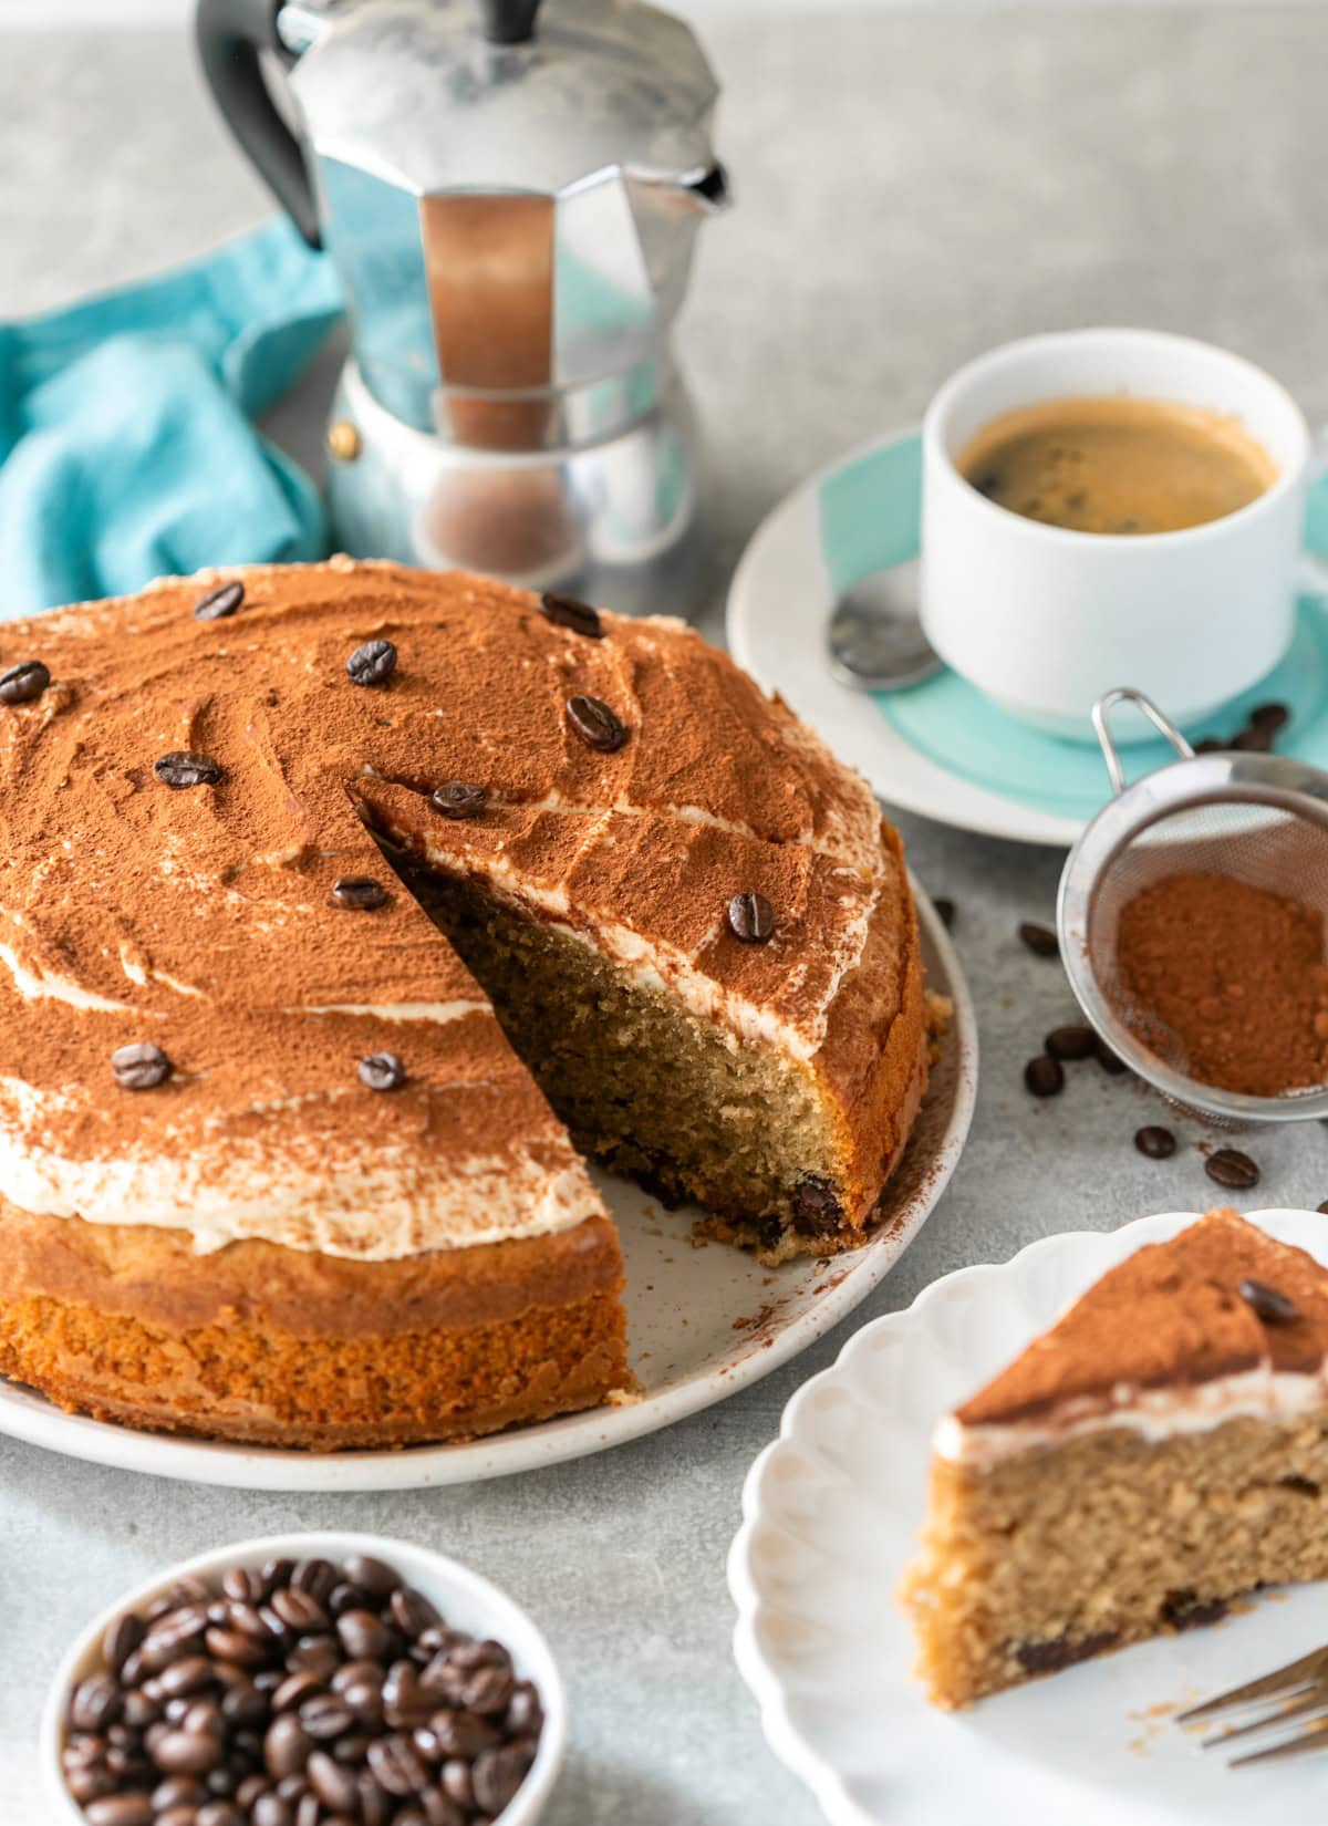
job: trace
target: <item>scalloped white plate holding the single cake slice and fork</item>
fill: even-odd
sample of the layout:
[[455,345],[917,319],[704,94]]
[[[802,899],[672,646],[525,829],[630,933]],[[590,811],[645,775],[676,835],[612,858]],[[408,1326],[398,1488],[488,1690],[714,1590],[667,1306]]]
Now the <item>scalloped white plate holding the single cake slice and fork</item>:
[[[1204,1695],[1328,1642],[1328,1583],[1268,1592],[1215,1629],[1070,1667],[964,1713],[912,1678],[895,1585],[922,1519],[935,1419],[974,1393],[1105,1269],[1195,1212],[1049,1236],[968,1267],[864,1326],[793,1397],[753,1464],[729,1554],[734,1654],[771,1749],[833,1826],[1295,1826],[1328,1762],[1229,1771],[1171,1722]],[[1328,1220],[1253,1220],[1328,1264]]]

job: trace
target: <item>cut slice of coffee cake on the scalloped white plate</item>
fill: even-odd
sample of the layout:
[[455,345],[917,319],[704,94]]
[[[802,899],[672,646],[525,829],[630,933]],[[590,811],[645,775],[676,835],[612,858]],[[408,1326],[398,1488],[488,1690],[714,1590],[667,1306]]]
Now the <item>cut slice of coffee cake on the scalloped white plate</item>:
[[1235,1211],[1111,1269],[933,1441],[937,1705],[1328,1576],[1328,1273]]

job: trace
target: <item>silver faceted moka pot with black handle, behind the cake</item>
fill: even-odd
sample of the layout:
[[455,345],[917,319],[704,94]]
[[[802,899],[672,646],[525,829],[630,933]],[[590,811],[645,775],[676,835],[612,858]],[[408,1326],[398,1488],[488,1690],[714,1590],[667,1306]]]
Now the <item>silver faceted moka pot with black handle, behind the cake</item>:
[[342,550],[692,606],[698,451],[669,334],[729,194],[690,29],[638,0],[199,0],[197,38],[345,287]]

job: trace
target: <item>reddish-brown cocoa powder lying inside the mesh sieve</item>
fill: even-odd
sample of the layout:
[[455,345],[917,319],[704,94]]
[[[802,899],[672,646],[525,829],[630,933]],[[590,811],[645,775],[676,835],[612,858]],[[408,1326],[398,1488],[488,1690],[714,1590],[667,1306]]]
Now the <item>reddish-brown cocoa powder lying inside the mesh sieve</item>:
[[1202,1085],[1275,1097],[1328,1077],[1323,915],[1226,875],[1164,875],[1127,902],[1122,1017]]

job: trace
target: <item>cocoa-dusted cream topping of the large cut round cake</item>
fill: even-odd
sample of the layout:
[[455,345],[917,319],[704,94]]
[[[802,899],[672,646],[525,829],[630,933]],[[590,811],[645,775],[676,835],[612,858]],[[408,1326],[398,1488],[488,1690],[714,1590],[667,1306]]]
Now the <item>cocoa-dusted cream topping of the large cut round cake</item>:
[[601,1209],[364,822],[798,1057],[908,922],[870,789],[676,623],[334,559],[11,623],[0,670],[29,1211],[391,1256]]

